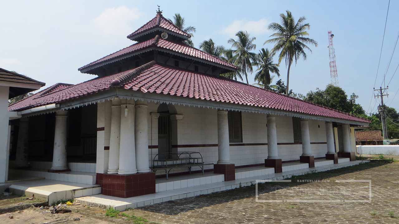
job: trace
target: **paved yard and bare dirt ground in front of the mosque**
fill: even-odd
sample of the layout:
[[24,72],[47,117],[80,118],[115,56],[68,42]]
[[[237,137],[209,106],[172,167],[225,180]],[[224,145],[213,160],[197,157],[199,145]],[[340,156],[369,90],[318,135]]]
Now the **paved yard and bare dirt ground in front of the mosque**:
[[[367,159],[367,157],[361,156],[360,159]],[[399,158],[395,157],[395,159]],[[296,176],[291,179],[291,183],[265,183],[258,186],[260,200],[295,198],[296,200],[313,200],[311,202],[256,202],[255,186],[249,186],[140,207],[123,213],[116,212],[114,213],[116,218],[106,216],[106,211],[103,209],[74,204],[68,206],[72,212],[65,214],[51,214],[49,210],[40,210],[35,207],[0,214],[0,223],[399,223],[398,171],[399,162],[390,159],[371,160],[370,163],[353,167]],[[336,182],[337,180],[352,179],[371,180],[371,200],[368,198],[369,183],[345,185],[349,186],[346,189],[350,189],[350,194],[304,193],[298,195],[295,191],[294,195],[278,193],[288,187],[291,189],[300,187],[302,190],[320,189],[326,184],[340,189],[342,183]],[[276,187],[280,187],[280,190],[275,191]],[[18,200],[23,200],[23,198]],[[18,200],[0,198],[0,208],[21,203]],[[317,200],[332,201],[318,202]],[[10,216],[13,218],[10,219]],[[74,218],[80,220],[74,221]]]

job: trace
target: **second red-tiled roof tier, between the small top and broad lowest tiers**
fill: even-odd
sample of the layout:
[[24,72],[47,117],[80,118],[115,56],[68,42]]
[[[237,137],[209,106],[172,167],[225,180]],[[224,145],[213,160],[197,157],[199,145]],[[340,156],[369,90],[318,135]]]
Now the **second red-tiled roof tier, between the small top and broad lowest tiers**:
[[202,61],[203,63],[207,63],[207,64],[211,64],[211,65],[214,64],[214,65],[219,65],[219,66],[221,65],[225,69],[229,69],[229,70],[233,70],[233,71],[237,69],[234,65],[228,63],[227,61],[223,61],[222,59],[219,59],[218,57],[215,57],[215,56],[208,54],[204,51],[201,51],[194,47],[190,47],[189,45],[187,45],[183,42],[178,43],[178,42],[174,42],[174,41],[169,41],[167,39],[160,38],[159,35],[156,35],[156,37],[154,37],[152,39],[148,39],[143,42],[135,43],[135,44],[130,45],[129,47],[126,47],[124,49],[121,49],[115,53],[112,53],[110,55],[102,57],[101,59],[98,59],[97,61],[93,61],[92,63],[89,63],[88,65],[85,65],[85,66],[79,68],[78,70],[81,72],[89,71],[89,70],[99,67],[101,65],[109,64],[114,61],[119,61],[126,57],[130,57],[130,56],[136,55],[138,53],[142,53],[143,51],[149,51],[153,48],[157,49],[158,51],[165,51],[168,53],[195,59],[197,61]]

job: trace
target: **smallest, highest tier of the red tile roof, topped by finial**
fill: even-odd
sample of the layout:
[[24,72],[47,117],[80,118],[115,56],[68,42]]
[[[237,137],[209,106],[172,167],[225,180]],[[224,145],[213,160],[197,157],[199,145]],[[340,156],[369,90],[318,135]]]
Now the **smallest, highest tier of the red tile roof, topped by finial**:
[[184,32],[182,29],[175,26],[172,22],[170,22],[168,19],[166,19],[164,16],[162,16],[162,14],[156,14],[156,16],[154,18],[152,18],[152,20],[148,21],[142,27],[138,28],[136,31],[129,34],[127,36],[127,38],[134,40],[137,36],[139,36],[144,31],[152,29],[152,28],[157,28],[157,27],[164,28],[172,33],[178,34],[180,36],[184,36],[186,38],[191,37],[190,34]]

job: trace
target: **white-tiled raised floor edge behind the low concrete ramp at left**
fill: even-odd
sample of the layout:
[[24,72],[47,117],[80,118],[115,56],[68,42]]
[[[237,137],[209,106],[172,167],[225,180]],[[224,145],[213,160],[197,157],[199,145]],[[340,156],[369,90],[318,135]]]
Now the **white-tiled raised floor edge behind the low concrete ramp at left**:
[[44,177],[45,179],[55,181],[66,181],[71,183],[81,183],[94,185],[96,183],[96,173],[88,172],[62,172],[62,173],[49,173],[46,171],[38,170],[22,170],[22,169],[10,169],[10,174],[18,176],[29,176],[29,177]]

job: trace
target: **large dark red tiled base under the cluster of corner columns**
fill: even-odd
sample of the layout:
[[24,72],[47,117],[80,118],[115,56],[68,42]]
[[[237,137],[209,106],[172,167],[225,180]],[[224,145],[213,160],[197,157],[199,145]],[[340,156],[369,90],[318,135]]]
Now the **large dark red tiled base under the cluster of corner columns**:
[[[130,198],[155,193],[155,173],[152,172],[128,175],[104,173],[102,176],[103,195]],[[100,181],[96,179],[96,183]]]

